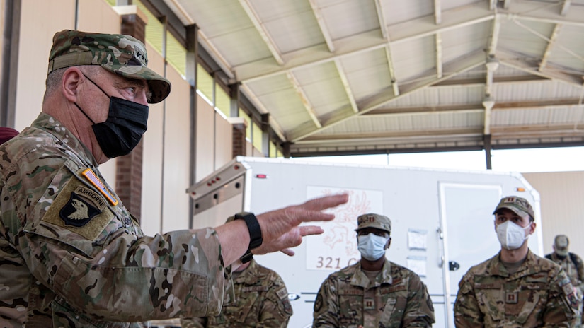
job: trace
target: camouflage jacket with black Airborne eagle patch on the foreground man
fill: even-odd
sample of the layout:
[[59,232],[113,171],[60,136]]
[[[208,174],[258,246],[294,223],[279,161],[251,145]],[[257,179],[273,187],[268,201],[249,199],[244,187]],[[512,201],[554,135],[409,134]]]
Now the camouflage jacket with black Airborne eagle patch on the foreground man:
[[127,322],[219,312],[217,233],[144,236],[90,151],[50,115],[0,146],[0,194],[0,327],[139,327]]

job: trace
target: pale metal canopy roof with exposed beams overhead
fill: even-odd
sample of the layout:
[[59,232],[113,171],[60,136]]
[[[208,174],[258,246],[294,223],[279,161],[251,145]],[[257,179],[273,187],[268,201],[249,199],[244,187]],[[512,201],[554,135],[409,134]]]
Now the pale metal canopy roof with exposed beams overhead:
[[584,145],[584,0],[164,3],[291,156]]

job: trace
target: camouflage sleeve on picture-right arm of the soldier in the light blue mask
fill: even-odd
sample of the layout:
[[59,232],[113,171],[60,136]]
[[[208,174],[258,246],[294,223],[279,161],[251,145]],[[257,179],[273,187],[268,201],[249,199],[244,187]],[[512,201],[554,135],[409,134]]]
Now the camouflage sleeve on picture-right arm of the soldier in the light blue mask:
[[410,279],[408,301],[401,327],[432,327],[434,322],[434,306],[428,288],[418,276],[414,276]]

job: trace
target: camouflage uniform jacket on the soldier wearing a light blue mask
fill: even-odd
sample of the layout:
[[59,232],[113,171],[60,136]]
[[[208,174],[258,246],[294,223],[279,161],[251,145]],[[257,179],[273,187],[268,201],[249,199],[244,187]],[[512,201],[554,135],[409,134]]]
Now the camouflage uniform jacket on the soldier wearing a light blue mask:
[[[365,298],[370,289],[374,300]],[[375,327],[430,327],[435,321],[428,289],[417,274],[386,261],[375,283],[370,283],[357,262],[322,283],[314,302],[312,327],[372,328],[364,323],[365,312],[377,317]]]

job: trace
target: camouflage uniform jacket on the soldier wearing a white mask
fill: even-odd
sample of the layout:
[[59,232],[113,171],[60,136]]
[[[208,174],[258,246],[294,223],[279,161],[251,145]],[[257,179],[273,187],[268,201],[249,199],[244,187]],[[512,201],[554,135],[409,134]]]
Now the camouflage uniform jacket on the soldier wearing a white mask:
[[454,303],[456,327],[571,327],[578,308],[561,266],[531,250],[509,274],[500,253],[471,267]]

